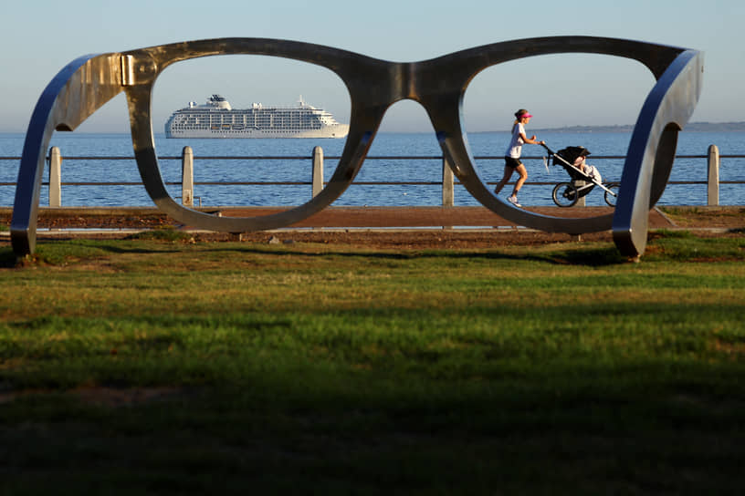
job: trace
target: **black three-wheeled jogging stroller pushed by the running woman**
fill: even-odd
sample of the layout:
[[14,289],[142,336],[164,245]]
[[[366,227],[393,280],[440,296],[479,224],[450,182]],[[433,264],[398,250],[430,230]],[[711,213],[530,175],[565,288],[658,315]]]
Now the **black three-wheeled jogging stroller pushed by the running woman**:
[[[600,172],[593,166],[584,165],[584,171],[582,171],[574,165],[575,163],[583,164],[583,158],[590,155],[590,150],[584,147],[567,147],[553,152],[548,146],[542,146],[549,153],[552,165],[561,165],[572,179],[570,182],[560,182],[554,187],[551,193],[554,203],[560,207],[571,207],[580,198],[593,191],[595,186],[598,186],[605,191],[605,202],[612,207],[615,206],[615,200],[618,197],[618,183],[608,182],[603,184]],[[544,163],[546,169],[548,169],[548,159]]]

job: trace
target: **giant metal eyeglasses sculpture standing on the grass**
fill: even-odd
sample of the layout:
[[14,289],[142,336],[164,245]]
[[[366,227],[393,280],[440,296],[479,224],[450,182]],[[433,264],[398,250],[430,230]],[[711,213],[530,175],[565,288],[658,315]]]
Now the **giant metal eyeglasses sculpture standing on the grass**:
[[[636,120],[624,162],[614,213],[572,219],[540,215],[499,200],[476,171],[464,128],[463,98],[470,81],[494,65],[525,57],[561,53],[601,54],[635,59],[656,84]],[[295,59],[334,72],[349,90],[350,129],[328,186],[309,202],[260,217],[217,217],[175,202],[163,182],[152,134],[152,88],[174,63],[217,55],[264,55]],[[34,253],[37,211],[46,150],[55,130],[73,130],[121,91],[127,95],[131,139],[142,182],[152,202],[174,220],[194,227],[244,233],[288,226],[336,200],[360,171],[385,111],[402,99],[425,107],[447,162],[478,202],[519,225],[546,232],[613,230],[621,253],[644,253],[648,212],[665,190],[683,129],[698,103],[703,54],[698,50],[595,37],[549,36],[474,47],[444,57],[398,63],[333,47],[265,38],[187,41],[121,53],[79,57],[52,79],[38,99],[21,158],[11,240],[22,257]]]

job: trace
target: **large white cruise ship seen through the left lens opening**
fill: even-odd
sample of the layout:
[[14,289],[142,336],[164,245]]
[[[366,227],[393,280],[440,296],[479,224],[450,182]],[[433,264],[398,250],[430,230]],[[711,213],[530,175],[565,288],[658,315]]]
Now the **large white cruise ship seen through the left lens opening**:
[[340,124],[331,113],[316,109],[299,98],[296,107],[233,109],[220,95],[205,105],[173,112],[165,122],[166,138],[344,138],[349,125]]

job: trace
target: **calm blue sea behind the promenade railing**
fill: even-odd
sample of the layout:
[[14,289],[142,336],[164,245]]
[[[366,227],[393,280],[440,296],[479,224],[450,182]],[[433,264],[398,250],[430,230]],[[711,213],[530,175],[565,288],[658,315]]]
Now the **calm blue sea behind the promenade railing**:
[[[565,146],[582,145],[593,156],[624,155],[630,139],[629,133],[611,132],[541,132],[553,150]],[[20,157],[23,134],[0,134],[0,157]],[[508,133],[478,133],[468,136],[474,156],[501,157],[509,141]],[[55,133],[52,146],[58,146],[64,158],[62,181],[140,181],[134,160],[75,160],[73,157],[131,157],[131,140],[127,134],[77,134]],[[745,132],[682,132],[678,140],[677,155],[706,155],[708,146],[715,144],[721,155],[745,155]],[[320,145],[326,157],[341,155],[343,140],[166,140],[156,137],[160,157],[180,157],[184,146],[194,150],[194,181],[310,181],[310,156]],[[355,181],[441,181],[441,160],[374,160],[374,157],[439,156],[440,150],[434,133],[379,134],[369,153],[368,160]],[[566,172],[558,167],[543,165],[543,149],[526,146],[524,160],[529,171],[528,181],[566,181]],[[200,157],[215,156],[303,156],[307,160],[209,160]],[[623,160],[588,160],[603,175],[603,181],[618,181]],[[328,180],[336,160],[325,161]],[[503,160],[477,160],[479,173],[488,182],[501,178]],[[181,181],[181,161],[162,160],[165,181]],[[0,182],[15,182],[18,160],[0,160]],[[721,181],[745,181],[745,159],[724,158],[719,171]],[[677,159],[671,181],[706,181],[706,159]],[[47,172],[45,172],[47,181]],[[169,186],[173,197],[181,198],[181,186]],[[524,205],[552,205],[551,185],[527,184],[520,191]],[[720,186],[720,204],[745,204],[745,184]],[[509,192],[509,187],[504,194]],[[0,185],[0,206],[12,206],[15,186]],[[295,205],[310,198],[310,185],[290,186],[229,186],[199,185],[194,197],[202,204],[213,205]],[[602,205],[602,191],[596,189],[587,197],[587,204]],[[661,204],[705,205],[706,185],[668,185]],[[47,189],[42,190],[42,205],[47,204]],[[335,205],[439,205],[442,193],[439,186],[419,185],[352,185]],[[63,186],[64,206],[148,206],[150,198],[138,186]],[[470,194],[456,186],[456,205],[476,205]]]

